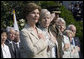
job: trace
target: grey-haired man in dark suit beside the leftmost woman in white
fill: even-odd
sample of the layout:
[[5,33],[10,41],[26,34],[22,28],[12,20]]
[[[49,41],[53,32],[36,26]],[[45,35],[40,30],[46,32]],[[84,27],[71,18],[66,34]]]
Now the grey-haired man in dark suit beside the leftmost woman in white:
[[11,57],[15,58],[15,44],[13,40],[15,39],[15,30],[12,27],[7,28],[8,39],[6,40],[5,44],[8,45]]

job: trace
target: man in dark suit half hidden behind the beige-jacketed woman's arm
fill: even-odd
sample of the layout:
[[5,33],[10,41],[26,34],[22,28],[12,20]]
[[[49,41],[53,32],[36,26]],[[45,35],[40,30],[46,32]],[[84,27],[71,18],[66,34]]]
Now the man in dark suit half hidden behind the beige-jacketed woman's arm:
[[16,58],[20,58],[20,35],[18,31],[16,31],[14,43],[16,45]]

